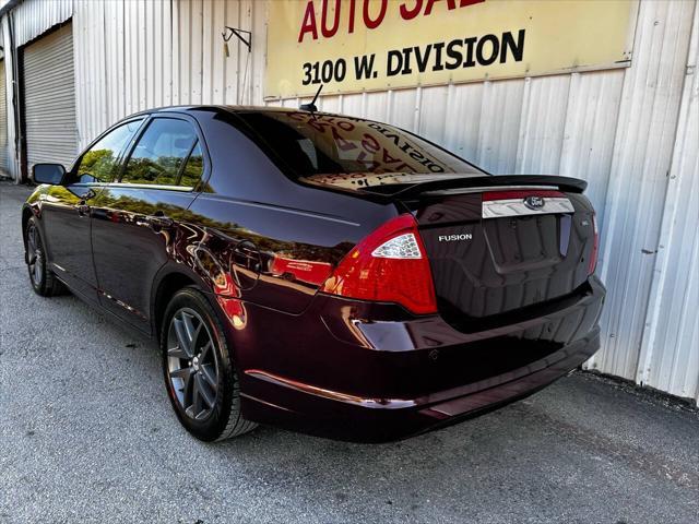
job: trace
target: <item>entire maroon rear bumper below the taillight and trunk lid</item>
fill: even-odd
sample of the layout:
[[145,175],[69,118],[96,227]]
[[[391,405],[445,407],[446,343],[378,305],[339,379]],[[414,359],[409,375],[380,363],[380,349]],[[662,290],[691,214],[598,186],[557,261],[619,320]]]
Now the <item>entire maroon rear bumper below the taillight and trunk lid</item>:
[[[600,347],[603,298],[592,277],[589,293],[569,307],[470,334],[439,317],[362,322],[363,313],[347,305],[335,322],[324,302],[294,322],[298,331],[298,322],[310,321],[303,317],[322,319],[317,340],[276,337],[284,348],[268,348],[281,360],[248,356],[244,415],[359,442],[450,425],[534,393],[590,358]],[[272,331],[285,329],[277,322]]]

